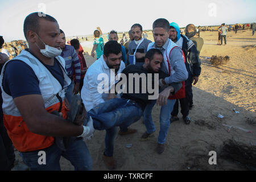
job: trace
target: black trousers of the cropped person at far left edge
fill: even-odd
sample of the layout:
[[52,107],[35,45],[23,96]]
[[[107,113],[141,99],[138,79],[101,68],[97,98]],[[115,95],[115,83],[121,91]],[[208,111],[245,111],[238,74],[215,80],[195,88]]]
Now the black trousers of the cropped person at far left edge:
[[14,147],[3,125],[2,107],[0,112],[0,171],[9,171],[14,167]]

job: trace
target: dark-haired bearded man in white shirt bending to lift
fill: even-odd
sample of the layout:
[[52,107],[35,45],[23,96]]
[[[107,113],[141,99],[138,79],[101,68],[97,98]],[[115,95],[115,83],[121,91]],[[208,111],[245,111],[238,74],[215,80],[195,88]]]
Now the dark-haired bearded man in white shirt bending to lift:
[[[113,72],[114,69],[114,72]],[[84,103],[86,111],[90,111],[98,104],[108,101],[110,98],[115,97],[113,93],[100,93],[98,91],[98,87],[101,84],[102,80],[98,80],[98,76],[102,73],[108,75],[108,85],[106,92],[109,92],[110,88],[118,82],[118,78],[116,80],[111,80],[110,75],[117,76],[118,73],[121,73],[125,69],[125,63],[122,61],[122,49],[121,45],[115,41],[110,40],[104,46],[103,55],[96,60],[88,70],[86,71],[84,77],[84,85],[81,90],[81,98]],[[117,127],[112,127],[106,130],[105,137],[105,151],[103,154],[103,160],[106,166],[109,169],[114,168],[114,140],[117,136]],[[128,129],[127,127],[120,127],[119,134],[131,134],[135,133],[137,130]]]

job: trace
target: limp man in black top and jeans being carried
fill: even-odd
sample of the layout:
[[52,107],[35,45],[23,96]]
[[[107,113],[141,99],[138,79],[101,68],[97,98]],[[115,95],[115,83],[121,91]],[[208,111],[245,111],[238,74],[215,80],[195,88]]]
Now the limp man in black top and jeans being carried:
[[[118,82],[116,85],[117,90],[115,90],[117,92],[123,92],[122,97],[103,102],[87,113],[88,120],[89,118],[93,119],[94,128],[96,130],[108,130],[114,126],[128,127],[134,122],[137,122],[141,118],[146,105],[151,104],[152,100],[156,100],[156,98],[150,96],[158,96],[159,78],[168,77],[168,74],[160,71],[162,62],[162,52],[159,49],[150,49],[145,55],[143,65],[131,64],[123,69],[122,80]],[[132,75],[137,75],[138,77],[143,77],[144,75],[144,81],[142,81],[143,79],[137,80],[138,82],[136,82],[136,79],[132,81],[130,79]],[[118,90],[118,85],[121,82],[122,90]],[[151,88],[148,88],[148,83],[154,86],[153,93],[150,92],[149,89]],[[130,90],[131,86],[133,86],[133,89]],[[181,86],[181,83],[172,83],[166,86],[159,93],[156,102],[159,105],[165,105],[168,97],[175,94]],[[123,88],[126,88],[126,91]],[[145,90],[146,92],[142,91],[144,88],[147,88]],[[137,89],[139,92],[135,92]],[[114,162],[112,166],[114,168]]]

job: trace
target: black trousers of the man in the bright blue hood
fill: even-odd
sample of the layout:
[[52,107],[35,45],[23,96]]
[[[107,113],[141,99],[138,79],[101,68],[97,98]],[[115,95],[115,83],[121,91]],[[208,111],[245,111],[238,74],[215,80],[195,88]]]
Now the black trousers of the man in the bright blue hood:
[[189,106],[193,104],[193,93],[192,93],[192,80],[189,79],[185,82],[185,98],[177,99],[174,104],[174,110],[172,110],[171,115],[177,116],[179,113],[179,102],[181,107],[181,114],[183,118],[187,117],[189,114]]

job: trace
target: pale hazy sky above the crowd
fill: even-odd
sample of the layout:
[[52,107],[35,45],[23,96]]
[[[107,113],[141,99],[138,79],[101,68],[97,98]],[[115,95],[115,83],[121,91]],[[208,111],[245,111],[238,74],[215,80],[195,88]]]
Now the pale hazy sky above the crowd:
[[180,27],[250,23],[256,22],[255,7],[255,0],[0,0],[0,35],[6,42],[25,40],[24,19],[36,11],[57,19],[66,36],[76,36],[92,34],[97,26],[104,33],[128,31],[134,23],[152,29],[158,18]]

